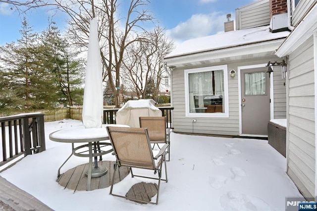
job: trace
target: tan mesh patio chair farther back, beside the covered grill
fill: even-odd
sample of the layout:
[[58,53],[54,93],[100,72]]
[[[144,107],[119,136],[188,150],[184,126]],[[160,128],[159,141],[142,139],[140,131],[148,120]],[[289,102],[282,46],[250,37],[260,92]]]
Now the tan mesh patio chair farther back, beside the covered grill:
[[[159,144],[168,144],[167,153],[168,159],[170,160],[170,129],[166,128],[166,116],[140,116],[140,127],[148,128],[150,142],[153,145],[153,149],[155,145],[159,147]],[[159,147],[160,149],[160,147]]]

